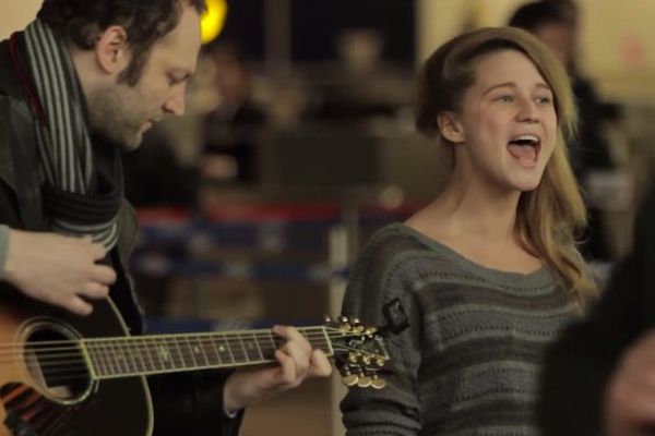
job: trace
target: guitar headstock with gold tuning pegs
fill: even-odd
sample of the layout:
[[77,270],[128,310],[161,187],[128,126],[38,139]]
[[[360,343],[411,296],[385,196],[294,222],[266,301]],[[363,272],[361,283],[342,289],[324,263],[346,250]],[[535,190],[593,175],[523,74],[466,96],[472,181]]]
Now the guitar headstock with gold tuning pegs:
[[380,378],[389,353],[384,340],[376,327],[365,327],[359,319],[340,316],[336,319],[325,317],[334,365],[342,375],[344,385],[382,389],[384,379]]

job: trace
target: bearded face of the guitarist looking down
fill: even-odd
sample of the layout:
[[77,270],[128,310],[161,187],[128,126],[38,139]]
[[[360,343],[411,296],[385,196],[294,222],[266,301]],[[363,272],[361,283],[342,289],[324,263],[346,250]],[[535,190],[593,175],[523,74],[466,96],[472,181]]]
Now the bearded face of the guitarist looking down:
[[200,51],[198,12],[183,2],[177,27],[155,43],[134,86],[114,82],[88,97],[91,129],[123,149],[135,149],[143,134],[166,113],[184,112],[187,83]]

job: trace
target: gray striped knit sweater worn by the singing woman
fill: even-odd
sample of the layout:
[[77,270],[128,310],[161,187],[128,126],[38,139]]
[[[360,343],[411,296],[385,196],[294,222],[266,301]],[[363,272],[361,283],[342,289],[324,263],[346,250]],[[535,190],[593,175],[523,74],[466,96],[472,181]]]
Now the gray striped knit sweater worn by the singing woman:
[[386,339],[386,387],[352,388],[342,401],[348,436],[538,434],[543,353],[577,313],[548,268],[486,268],[396,223],[362,251],[343,313],[381,326],[396,299],[409,327]]

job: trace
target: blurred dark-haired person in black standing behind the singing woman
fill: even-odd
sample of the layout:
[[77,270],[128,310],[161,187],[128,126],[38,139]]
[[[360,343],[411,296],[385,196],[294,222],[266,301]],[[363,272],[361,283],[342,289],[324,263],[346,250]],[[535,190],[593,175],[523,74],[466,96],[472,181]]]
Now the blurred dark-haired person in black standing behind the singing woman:
[[607,240],[603,205],[595,201],[591,184],[598,171],[607,172],[614,164],[604,137],[605,107],[592,82],[575,65],[577,23],[579,10],[571,0],[532,1],[520,7],[509,21],[510,26],[532,32],[549,46],[569,71],[580,117],[577,141],[570,147],[571,164],[587,193],[590,207],[590,226],[582,235],[582,251],[590,261],[609,262],[614,255]]

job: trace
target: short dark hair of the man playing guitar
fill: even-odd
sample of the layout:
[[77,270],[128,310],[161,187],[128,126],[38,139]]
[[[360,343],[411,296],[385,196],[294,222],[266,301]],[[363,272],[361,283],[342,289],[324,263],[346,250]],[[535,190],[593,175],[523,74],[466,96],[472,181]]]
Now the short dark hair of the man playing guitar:
[[204,0],[44,0],[38,19],[67,41],[91,50],[99,33],[124,27],[132,59],[119,82],[134,86],[156,41],[178,24],[182,1],[204,12]]

